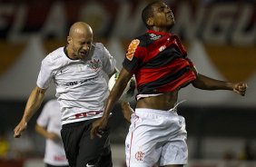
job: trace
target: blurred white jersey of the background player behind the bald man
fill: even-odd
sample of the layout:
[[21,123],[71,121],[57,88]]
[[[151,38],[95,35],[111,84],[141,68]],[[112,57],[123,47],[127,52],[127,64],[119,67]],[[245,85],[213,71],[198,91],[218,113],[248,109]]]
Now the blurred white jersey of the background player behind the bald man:
[[[42,113],[38,117],[36,123],[42,127],[46,127],[47,132],[58,134],[61,139],[61,112],[60,104],[57,100],[51,100],[48,103],[45,103]],[[44,162],[58,166],[68,165],[62,140],[54,142],[50,139],[46,139]]]

